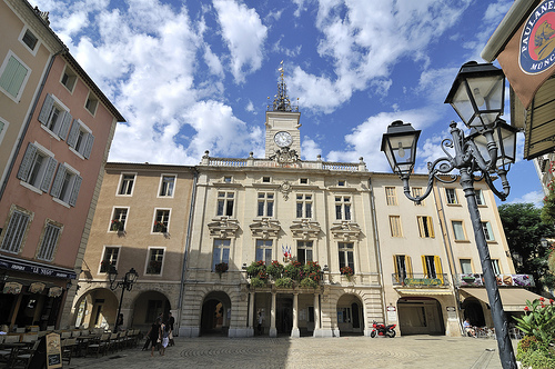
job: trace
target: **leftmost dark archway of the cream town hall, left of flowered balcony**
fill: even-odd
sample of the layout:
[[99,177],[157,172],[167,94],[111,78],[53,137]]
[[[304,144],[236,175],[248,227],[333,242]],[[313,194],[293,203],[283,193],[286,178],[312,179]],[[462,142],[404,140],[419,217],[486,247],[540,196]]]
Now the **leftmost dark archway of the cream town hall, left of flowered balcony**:
[[228,293],[214,291],[202,303],[201,336],[228,336],[231,319],[231,300]]

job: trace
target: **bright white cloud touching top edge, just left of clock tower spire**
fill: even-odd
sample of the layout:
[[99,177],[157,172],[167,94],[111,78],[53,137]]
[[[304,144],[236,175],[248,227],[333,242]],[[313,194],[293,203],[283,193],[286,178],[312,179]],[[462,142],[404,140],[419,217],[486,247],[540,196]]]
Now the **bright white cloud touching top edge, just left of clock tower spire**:
[[214,0],[222,37],[231,52],[231,71],[236,82],[262,66],[262,47],[268,28],[254,9],[230,0]]

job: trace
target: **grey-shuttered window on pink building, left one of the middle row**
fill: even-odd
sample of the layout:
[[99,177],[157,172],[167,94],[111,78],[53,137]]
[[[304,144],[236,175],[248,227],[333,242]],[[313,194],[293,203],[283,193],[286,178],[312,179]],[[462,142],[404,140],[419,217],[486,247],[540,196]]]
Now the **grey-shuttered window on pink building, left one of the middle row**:
[[48,192],[58,164],[53,156],[38,143],[29,142],[18,170],[18,179]]

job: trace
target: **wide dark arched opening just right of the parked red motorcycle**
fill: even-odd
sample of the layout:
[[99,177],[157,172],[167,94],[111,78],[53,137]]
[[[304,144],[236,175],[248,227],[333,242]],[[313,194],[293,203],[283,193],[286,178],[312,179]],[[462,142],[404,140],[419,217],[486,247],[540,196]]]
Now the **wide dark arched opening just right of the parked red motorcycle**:
[[428,297],[404,297],[397,301],[401,335],[445,335],[440,301]]

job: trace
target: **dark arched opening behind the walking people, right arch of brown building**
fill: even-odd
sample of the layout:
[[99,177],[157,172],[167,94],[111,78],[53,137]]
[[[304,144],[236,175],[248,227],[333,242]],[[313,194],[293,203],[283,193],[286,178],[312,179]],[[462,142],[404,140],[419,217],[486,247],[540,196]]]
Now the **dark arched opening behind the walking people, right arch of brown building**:
[[129,318],[129,326],[149,330],[160,315],[165,321],[171,310],[170,300],[158,291],[145,291],[139,295],[133,303],[133,316]]

